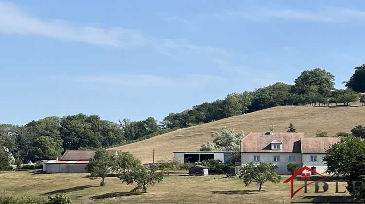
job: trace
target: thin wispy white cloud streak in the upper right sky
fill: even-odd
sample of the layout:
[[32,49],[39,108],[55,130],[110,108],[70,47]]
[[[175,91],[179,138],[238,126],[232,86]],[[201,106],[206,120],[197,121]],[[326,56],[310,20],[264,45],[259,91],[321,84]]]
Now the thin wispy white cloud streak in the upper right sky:
[[226,11],[224,14],[249,20],[264,20],[272,17],[331,23],[364,22],[365,20],[365,11],[325,6],[319,10],[256,7],[250,10]]

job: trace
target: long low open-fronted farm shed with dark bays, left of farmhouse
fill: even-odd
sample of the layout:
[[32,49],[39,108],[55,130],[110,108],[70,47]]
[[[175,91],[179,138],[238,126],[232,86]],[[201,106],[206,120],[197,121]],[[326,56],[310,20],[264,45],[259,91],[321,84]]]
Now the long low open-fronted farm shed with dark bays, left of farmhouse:
[[209,159],[218,159],[222,163],[232,157],[233,152],[173,152],[175,159],[181,163],[195,163]]

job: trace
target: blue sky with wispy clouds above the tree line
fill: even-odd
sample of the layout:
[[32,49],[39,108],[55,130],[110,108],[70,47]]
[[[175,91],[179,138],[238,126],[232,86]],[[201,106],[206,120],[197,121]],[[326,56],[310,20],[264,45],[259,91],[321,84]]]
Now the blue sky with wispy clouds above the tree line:
[[0,123],[161,121],[318,67],[344,88],[364,34],[362,0],[0,0]]

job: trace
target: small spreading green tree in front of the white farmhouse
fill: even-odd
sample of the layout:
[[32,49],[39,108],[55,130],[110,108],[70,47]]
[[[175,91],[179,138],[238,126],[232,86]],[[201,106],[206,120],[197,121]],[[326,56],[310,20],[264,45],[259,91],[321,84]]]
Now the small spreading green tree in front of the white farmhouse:
[[258,191],[261,191],[262,185],[267,181],[277,184],[281,180],[281,176],[277,174],[277,166],[266,163],[257,165],[254,162],[248,163],[241,168],[239,178],[243,180],[245,186],[255,182],[259,186]]

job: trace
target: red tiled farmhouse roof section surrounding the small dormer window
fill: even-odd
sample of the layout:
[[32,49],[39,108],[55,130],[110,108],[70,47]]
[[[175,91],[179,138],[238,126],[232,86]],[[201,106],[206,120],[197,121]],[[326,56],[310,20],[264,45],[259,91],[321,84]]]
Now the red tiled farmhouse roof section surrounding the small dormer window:
[[[300,153],[301,137],[304,133],[250,133],[241,140],[241,153]],[[281,150],[271,150],[271,143],[275,140],[282,142]]]

